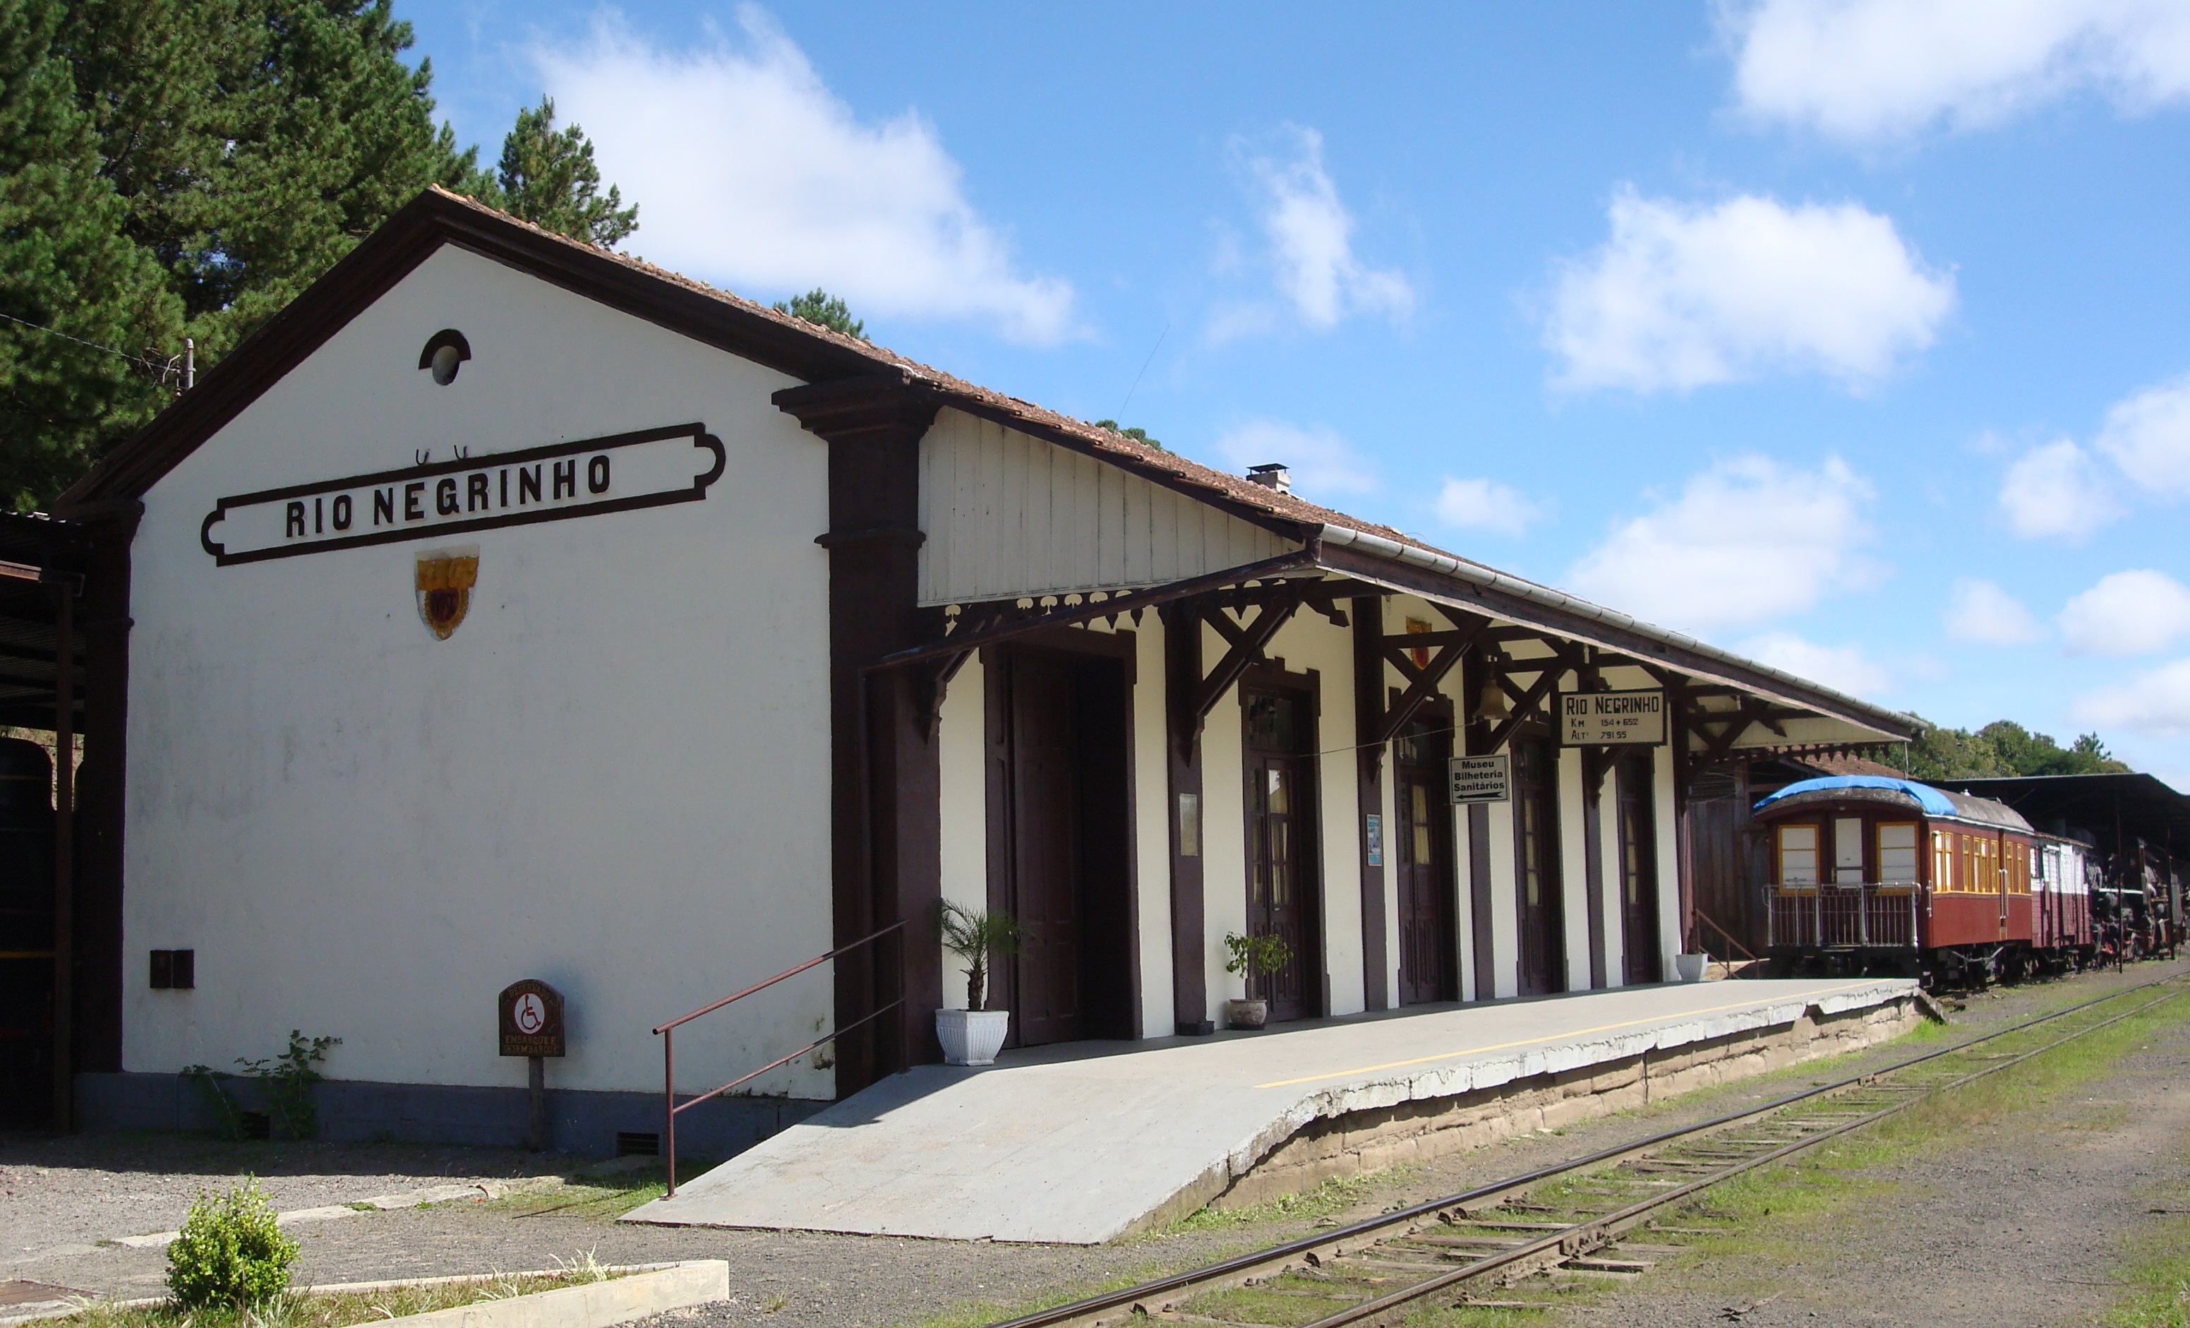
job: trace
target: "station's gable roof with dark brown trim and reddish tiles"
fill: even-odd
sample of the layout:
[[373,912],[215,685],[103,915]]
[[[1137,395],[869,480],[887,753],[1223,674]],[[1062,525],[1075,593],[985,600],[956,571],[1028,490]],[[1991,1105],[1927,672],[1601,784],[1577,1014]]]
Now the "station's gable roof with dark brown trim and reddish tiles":
[[1318,550],[1318,563],[1382,585],[1590,640],[1899,739],[1918,721],[1695,638],[1603,609],[1413,535],[1255,484],[1174,451],[968,383],[896,351],[848,337],[629,254],[587,245],[475,199],[429,186],[320,281],[199,375],[197,386],[110,451],[55,504],[57,515],[142,497],[191,451],[302,364],[442,245],[458,245],[701,344],[806,383],[898,379],[944,405],[1121,467]]

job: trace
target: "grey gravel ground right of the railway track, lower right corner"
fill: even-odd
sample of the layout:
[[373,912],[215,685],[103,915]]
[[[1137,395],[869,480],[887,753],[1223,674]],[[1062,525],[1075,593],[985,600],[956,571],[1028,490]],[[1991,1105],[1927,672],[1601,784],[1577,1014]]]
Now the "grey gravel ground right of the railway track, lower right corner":
[[2122,1238],[2155,1201],[2179,1210],[2186,1148],[2190,1019],[2177,1019],[2052,1113],[1868,1168],[1879,1188],[1763,1227],[1741,1253],[1651,1271],[1568,1321],[2094,1324],[2118,1293]]

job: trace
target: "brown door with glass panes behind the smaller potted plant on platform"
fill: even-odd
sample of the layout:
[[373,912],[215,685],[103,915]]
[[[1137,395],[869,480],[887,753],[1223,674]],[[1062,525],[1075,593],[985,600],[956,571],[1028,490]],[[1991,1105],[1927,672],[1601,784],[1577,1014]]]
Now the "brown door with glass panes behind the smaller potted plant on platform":
[[1246,925],[1253,936],[1283,938],[1292,951],[1253,995],[1270,1001],[1270,1019],[1307,1019],[1323,1012],[1307,717],[1294,695],[1250,695],[1246,712]]

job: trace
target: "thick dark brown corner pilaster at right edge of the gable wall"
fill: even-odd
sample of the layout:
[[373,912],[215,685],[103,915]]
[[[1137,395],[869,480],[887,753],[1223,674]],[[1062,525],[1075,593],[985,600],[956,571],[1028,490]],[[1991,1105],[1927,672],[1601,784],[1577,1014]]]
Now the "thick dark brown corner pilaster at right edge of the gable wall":
[[775,405],[828,440],[832,945],[889,923],[898,938],[834,964],[837,1028],[898,999],[837,1043],[837,1094],[935,1063],[942,1006],[942,767],[918,671],[869,671],[922,644],[920,438],[937,397],[904,375],[784,388]]

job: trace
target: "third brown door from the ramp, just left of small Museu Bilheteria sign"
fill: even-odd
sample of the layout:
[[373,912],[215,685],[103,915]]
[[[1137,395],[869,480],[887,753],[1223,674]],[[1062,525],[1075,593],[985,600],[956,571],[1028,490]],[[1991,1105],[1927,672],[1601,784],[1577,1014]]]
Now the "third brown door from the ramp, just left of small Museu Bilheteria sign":
[[1461,999],[1452,896],[1452,806],[1445,800],[1443,734],[1408,725],[1393,747],[1399,894],[1399,1004]]

